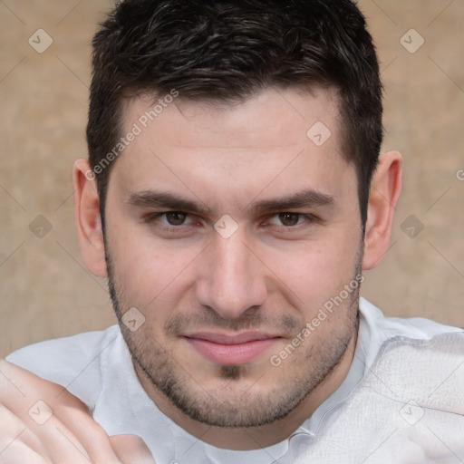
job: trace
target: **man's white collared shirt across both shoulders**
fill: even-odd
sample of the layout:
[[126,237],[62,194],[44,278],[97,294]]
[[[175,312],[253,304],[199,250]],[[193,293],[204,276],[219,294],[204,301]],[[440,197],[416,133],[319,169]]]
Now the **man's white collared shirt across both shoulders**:
[[[426,421],[419,418],[422,409],[419,405],[416,406],[419,401],[415,399],[419,399],[422,390],[431,383],[440,381],[447,384],[451,379],[458,382],[457,386],[453,384],[450,388],[454,390],[441,395],[438,405],[434,403],[428,411],[438,409],[440,412],[448,412],[446,423],[452,425],[453,430],[458,430],[451,433],[462,432],[459,437],[462,437],[463,444],[462,449],[458,449],[459,438],[455,443],[454,437],[452,440],[448,437],[449,442],[452,441],[452,449],[448,450],[449,454],[446,456],[453,456],[453,459],[459,456],[464,462],[464,381],[461,385],[459,383],[461,378],[464,379],[464,331],[423,318],[384,317],[378,308],[362,298],[360,312],[360,329],[353,364],[342,385],[288,439],[265,449],[218,449],[193,437],[165,416],[141,387],[132,366],[131,355],[117,325],[101,332],[80,333],[72,337],[35,343],[10,354],[6,359],[63,385],[90,407],[93,418],[109,435],[139,435],[147,443],[157,464],[270,464],[275,461],[281,464],[347,464],[364,460],[366,464],[408,463],[411,461],[407,460],[407,453],[412,452],[417,459],[417,446],[426,446],[422,443],[425,438],[416,437],[416,430],[420,430],[422,423],[425,424]],[[449,335],[443,335],[447,333]],[[443,342],[443,336],[450,338]],[[433,343],[438,345],[430,345],[435,339],[439,342]],[[424,348],[419,349],[418,346]],[[453,353],[448,353],[448,348],[443,349],[443,346],[451,346]],[[438,357],[435,353],[439,353]],[[420,362],[432,359],[433,365],[427,365],[425,369],[419,365]],[[419,361],[416,365],[411,365],[412,360]],[[463,375],[454,379],[451,375],[460,374],[459,362],[462,363],[460,367],[463,368]],[[447,374],[453,370],[455,372]],[[410,378],[411,372],[416,372],[413,374],[416,377],[421,375],[420,372],[425,372],[426,375],[416,385],[415,378]],[[431,378],[434,376],[443,379],[432,382]],[[404,383],[406,377],[408,382]],[[394,382],[395,385],[389,386],[389,382]],[[459,385],[462,391],[459,391]],[[398,389],[401,393],[395,392]],[[395,396],[398,398],[394,398]],[[451,396],[456,404],[449,403]],[[424,402],[423,399],[420,401]],[[391,409],[396,406],[398,411],[395,409],[391,413]],[[381,419],[374,417],[376,413],[380,413]],[[379,425],[379,421],[382,422],[382,418],[386,417],[390,418],[391,427]],[[449,417],[459,421],[453,422]],[[442,416],[438,419],[439,425],[431,426],[432,429],[440,428],[439,434],[444,427],[441,418]],[[412,425],[410,423],[414,420],[420,421],[420,426],[415,429],[413,426],[417,422]],[[407,438],[412,432],[403,430],[404,426],[413,430],[413,435],[416,434],[412,441]],[[357,429],[360,431],[356,431]],[[376,430],[375,436],[372,436],[372,430]],[[446,431],[450,433],[449,430]],[[386,440],[381,443],[383,432]],[[391,435],[387,436],[390,432]],[[433,430],[430,435],[432,433]],[[395,434],[399,436],[396,441]],[[376,440],[379,440],[378,448],[375,448]],[[418,440],[422,440],[419,445]],[[410,442],[412,445],[408,445]],[[446,447],[446,443],[443,446]],[[399,448],[404,449],[402,454]],[[372,456],[369,454],[371,451]],[[421,463],[429,462],[425,456],[428,455],[422,456]],[[456,462],[459,460],[456,459]]]

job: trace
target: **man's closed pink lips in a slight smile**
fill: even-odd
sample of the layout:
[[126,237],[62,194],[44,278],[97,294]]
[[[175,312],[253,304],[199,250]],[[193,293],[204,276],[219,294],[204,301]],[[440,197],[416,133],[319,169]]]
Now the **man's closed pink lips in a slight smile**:
[[184,335],[183,338],[202,357],[220,365],[252,362],[282,340],[280,336],[257,332],[236,335],[204,332]]

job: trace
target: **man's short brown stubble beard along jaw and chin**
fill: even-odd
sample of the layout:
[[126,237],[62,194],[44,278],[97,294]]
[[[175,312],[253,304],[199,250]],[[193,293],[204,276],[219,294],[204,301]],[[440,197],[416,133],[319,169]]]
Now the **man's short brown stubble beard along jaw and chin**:
[[[215,373],[218,381],[222,381],[218,382],[218,385],[221,386],[215,391],[207,391],[201,387],[202,379],[194,379],[187,370],[181,367],[181,360],[177,360],[174,354],[165,350],[160,341],[146,330],[148,324],[142,325],[135,333],[129,331],[122,324],[123,312],[121,307],[125,307],[127,304],[122,304],[121,295],[123,292],[116,282],[108,249],[106,249],[106,262],[111,302],[133,362],[157,391],[164,395],[179,411],[190,419],[208,426],[259,427],[285,418],[321,382],[330,376],[343,359],[349,344],[357,336],[359,286],[350,294],[346,301],[346,307],[337,308],[337,310],[344,311],[344,318],[337,320],[332,328],[320,337],[319,341],[314,339],[314,335],[317,333],[314,332],[308,337],[308,340],[301,344],[298,352],[292,353],[291,356],[298,356],[297,359],[285,360],[278,367],[272,366],[269,362],[269,370],[281,369],[281,367],[284,369],[279,377],[279,382],[275,382],[272,386],[266,386],[266,391],[257,385],[251,386],[251,388],[247,387],[247,389],[240,388],[240,382],[246,381],[251,376],[250,367],[247,365],[217,366]],[[361,275],[361,263],[362,257],[359,254],[353,280]],[[127,308],[129,307],[131,305],[127,305]],[[251,315],[243,321],[230,323],[222,320],[218,325],[221,328],[230,328],[233,325],[237,330],[248,327],[259,329],[261,317],[260,314],[256,313],[256,310],[254,311],[255,313],[252,314],[255,315]],[[327,320],[330,320],[333,314]],[[216,317],[218,320],[220,319],[220,316]],[[189,318],[186,316],[183,322],[187,323],[187,319]],[[208,320],[210,321],[210,318]],[[179,321],[170,321],[172,332],[174,331],[172,327],[176,324],[179,324]],[[277,324],[286,324],[287,328],[292,325],[289,321],[285,321],[285,318]],[[215,325],[208,325],[208,327],[211,326]],[[169,327],[169,322],[166,327]],[[330,334],[330,337],[327,334]],[[293,366],[292,370],[285,372],[285,366],[289,365]],[[272,372],[275,373],[275,371]],[[263,379],[266,380],[266,374],[263,375]]]

